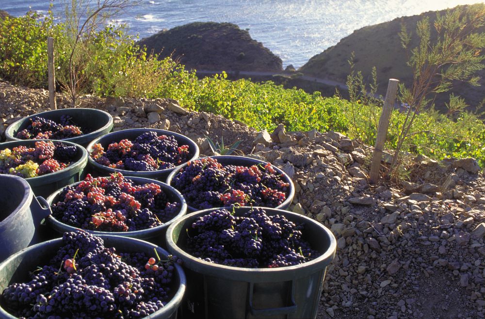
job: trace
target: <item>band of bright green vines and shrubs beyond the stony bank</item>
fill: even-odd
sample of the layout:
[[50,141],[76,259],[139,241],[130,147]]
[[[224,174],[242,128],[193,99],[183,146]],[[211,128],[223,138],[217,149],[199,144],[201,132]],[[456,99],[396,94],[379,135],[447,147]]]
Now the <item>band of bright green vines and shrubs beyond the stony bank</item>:
[[[65,26],[54,25],[52,16],[7,17],[0,23],[0,76],[16,85],[47,88],[47,35],[56,39],[56,71],[59,90],[65,90],[68,78]],[[378,114],[379,106],[357,105],[339,97],[324,98],[316,92],[284,89],[271,81],[254,83],[247,79],[230,81],[226,74],[198,79],[167,57],[158,60],[138,47],[122,28],[98,30],[86,40],[76,63],[82,80],[77,92],[101,97],[127,96],[173,98],[190,110],[212,112],[238,120],[258,130],[272,131],[283,123],[288,131],[320,132],[334,130],[352,136],[351,127],[367,127],[361,137],[372,145],[376,122],[369,114]],[[140,54],[140,52],[142,52]],[[82,54],[81,54],[82,53]],[[357,102],[358,103],[358,102]],[[391,127],[398,125],[402,114],[394,111]],[[446,156],[475,157],[485,165],[483,141],[485,125],[474,115],[463,113],[454,121],[435,113],[417,115],[416,131],[435,128],[434,134],[416,134],[409,138],[404,151],[422,153],[436,159]],[[388,148],[396,145],[397,136],[389,134]]]

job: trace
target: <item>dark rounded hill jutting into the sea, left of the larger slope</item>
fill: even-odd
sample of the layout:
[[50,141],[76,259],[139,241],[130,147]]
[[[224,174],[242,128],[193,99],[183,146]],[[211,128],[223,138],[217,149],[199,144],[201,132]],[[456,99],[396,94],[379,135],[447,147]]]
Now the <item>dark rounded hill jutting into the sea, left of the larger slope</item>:
[[282,61],[247,30],[231,23],[194,22],[142,39],[162,58],[173,53],[188,69],[282,71]]

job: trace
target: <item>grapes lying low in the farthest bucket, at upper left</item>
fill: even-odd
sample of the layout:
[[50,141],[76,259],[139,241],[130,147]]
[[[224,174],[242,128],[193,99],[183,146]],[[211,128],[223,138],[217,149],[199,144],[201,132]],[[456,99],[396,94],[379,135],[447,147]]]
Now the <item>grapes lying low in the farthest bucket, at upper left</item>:
[[81,136],[84,133],[79,126],[74,125],[72,117],[62,115],[60,123],[36,116],[30,119],[26,129],[17,132],[20,139],[65,139]]

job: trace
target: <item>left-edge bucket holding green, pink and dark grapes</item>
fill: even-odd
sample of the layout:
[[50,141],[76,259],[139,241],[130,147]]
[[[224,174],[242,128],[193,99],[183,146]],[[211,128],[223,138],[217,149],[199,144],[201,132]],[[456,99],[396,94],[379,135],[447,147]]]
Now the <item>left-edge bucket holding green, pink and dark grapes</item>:
[[0,174],[23,177],[36,196],[78,182],[87,152],[80,145],[56,140],[25,140],[0,144]]

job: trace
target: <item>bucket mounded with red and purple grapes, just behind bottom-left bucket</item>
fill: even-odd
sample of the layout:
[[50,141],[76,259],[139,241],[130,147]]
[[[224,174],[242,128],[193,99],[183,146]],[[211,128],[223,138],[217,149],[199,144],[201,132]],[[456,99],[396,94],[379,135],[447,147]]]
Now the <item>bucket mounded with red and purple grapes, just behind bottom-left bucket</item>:
[[168,226],[187,211],[182,195],[156,180],[124,177],[86,178],[47,198],[52,210],[47,224],[59,233],[77,228],[116,234],[165,246]]

